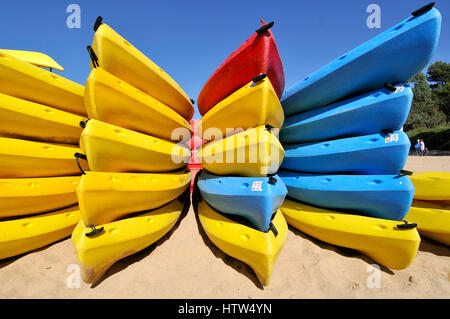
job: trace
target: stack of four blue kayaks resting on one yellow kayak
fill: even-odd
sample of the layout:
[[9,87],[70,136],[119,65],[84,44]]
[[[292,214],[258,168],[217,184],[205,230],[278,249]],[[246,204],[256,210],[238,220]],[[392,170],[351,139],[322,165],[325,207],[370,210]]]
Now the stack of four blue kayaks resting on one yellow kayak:
[[[294,227],[322,240],[364,251],[349,244],[351,241],[337,240],[348,238],[350,227],[346,232],[336,221],[317,223],[323,218],[323,210],[311,214],[312,210],[305,207],[312,205],[352,215],[355,220],[362,216],[376,218],[379,225],[383,220],[398,221],[394,230],[409,231],[407,240],[420,242],[415,224],[403,221],[412,203],[414,186],[402,171],[410,149],[402,126],[413,98],[405,82],[430,62],[437,46],[441,15],[433,6],[413,12],[282,96],[287,118],[280,132],[285,157],[278,174],[288,188],[288,196],[306,204],[297,214],[293,207],[300,206],[290,204],[286,211],[282,208]],[[308,220],[303,220],[306,211]],[[345,220],[348,223],[349,219]],[[335,227],[334,233],[321,236],[330,227]],[[386,232],[372,234],[369,229],[358,236],[398,238]],[[417,247],[418,243],[410,246],[400,262],[389,264],[389,258],[377,258],[388,267],[404,268],[414,259]]]

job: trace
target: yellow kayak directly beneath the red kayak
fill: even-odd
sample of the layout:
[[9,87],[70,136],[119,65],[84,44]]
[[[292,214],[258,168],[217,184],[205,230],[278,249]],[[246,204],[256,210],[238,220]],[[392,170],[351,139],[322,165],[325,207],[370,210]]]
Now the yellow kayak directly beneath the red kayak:
[[222,138],[236,129],[247,130],[266,124],[280,129],[284,121],[283,108],[270,80],[261,78],[247,83],[209,110],[197,128],[200,137],[205,140],[213,136]]

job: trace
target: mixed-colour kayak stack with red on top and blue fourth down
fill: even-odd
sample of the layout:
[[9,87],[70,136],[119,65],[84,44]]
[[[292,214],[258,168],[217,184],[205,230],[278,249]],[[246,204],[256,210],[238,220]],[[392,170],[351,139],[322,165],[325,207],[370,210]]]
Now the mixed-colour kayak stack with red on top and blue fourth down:
[[[287,189],[272,176],[284,157],[277,138],[284,113],[273,82],[284,87],[284,75],[272,25],[264,23],[202,89],[203,118],[197,131],[209,142],[197,157],[208,172],[197,175],[195,190],[206,235],[226,254],[248,264],[264,286],[287,238],[279,210]],[[259,50],[266,40],[271,49]]]

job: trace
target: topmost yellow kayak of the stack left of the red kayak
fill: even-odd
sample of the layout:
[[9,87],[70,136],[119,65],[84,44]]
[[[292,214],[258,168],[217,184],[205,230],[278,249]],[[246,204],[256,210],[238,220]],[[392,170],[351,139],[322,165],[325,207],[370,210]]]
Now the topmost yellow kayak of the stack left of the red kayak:
[[90,51],[91,67],[100,67],[172,108],[186,120],[194,115],[192,102],[166,72],[110,26],[97,18]]

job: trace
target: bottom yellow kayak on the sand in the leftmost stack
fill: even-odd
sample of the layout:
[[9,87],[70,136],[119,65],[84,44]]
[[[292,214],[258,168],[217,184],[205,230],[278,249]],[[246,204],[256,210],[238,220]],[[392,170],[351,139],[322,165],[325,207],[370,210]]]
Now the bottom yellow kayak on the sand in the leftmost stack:
[[0,221],[0,259],[21,255],[66,238],[79,221],[78,206]]

